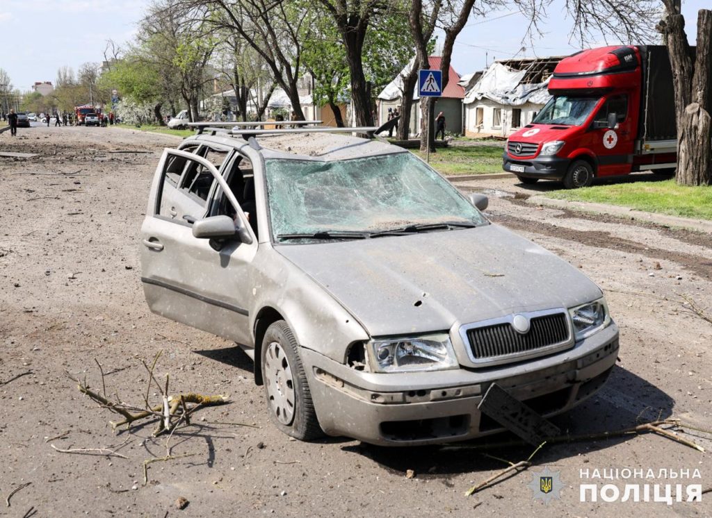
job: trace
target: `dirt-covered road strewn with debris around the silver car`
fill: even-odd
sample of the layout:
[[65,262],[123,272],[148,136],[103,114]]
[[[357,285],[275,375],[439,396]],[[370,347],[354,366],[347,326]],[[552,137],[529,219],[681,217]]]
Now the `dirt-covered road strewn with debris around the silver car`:
[[[143,299],[139,229],[160,151],[176,143],[113,128],[0,135],[0,151],[41,155],[0,157],[0,516],[712,514],[712,493],[701,502],[676,501],[676,484],[712,486],[711,454],[651,434],[544,446],[530,472],[471,497],[464,496],[468,487],[506,468],[502,459],[524,460],[533,448],[290,441],[269,423],[263,388],[253,384],[251,361],[234,344],[152,315]],[[600,284],[620,326],[611,379],[554,419],[562,431],[614,431],[668,417],[712,428],[712,322],[705,320],[712,315],[711,236],[537,207],[515,198],[522,190],[512,180],[461,188],[488,190],[493,222]],[[114,414],[83,397],[68,374],[101,390],[97,360],[106,392],[142,406],[141,361],[158,351],[156,373],[170,374],[171,392],[229,394],[231,403],[201,409],[176,431],[172,455],[191,456],[152,463],[144,484],[143,463],[167,455],[167,438],[152,438],[153,425],[112,431]],[[684,437],[712,450],[712,435],[692,428]],[[109,448],[125,458],[55,448]],[[528,487],[545,466],[562,482],[560,500],[548,507]],[[592,476],[624,468],[690,477]],[[700,477],[691,477],[694,470]],[[621,497],[580,502],[582,484],[612,484]],[[652,489],[650,502],[621,502],[626,484],[671,485],[671,505],[653,502]],[[189,502],[183,510],[179,497]]]

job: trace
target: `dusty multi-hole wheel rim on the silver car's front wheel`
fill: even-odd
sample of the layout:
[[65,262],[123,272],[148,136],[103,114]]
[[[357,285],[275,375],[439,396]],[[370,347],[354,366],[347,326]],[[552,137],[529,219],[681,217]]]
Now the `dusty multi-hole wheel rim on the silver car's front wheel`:
[[294,419],[295,393],[292,369],[282,345],[271,342],[265,354],[267,397],[277,420],[290,425]]

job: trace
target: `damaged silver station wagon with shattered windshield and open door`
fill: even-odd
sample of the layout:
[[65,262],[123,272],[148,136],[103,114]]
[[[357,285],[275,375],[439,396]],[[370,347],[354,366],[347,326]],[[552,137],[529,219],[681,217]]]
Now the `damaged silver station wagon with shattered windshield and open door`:
[[151,310],[237,342],[278,428],[461,441],[503,430],[493,383],[543,416],[604,384],[618,328],[590,279],[412,153],[306,131],[166,149],[141,228]]

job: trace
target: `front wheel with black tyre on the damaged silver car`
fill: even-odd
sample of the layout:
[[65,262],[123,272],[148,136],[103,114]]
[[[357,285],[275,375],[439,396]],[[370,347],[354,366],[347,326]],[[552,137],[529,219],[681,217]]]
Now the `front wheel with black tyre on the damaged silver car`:
[[261,360],[270,421],[300,441],[323,436],[299,357],[299,345],[284,320],[267,328],[262,340]]

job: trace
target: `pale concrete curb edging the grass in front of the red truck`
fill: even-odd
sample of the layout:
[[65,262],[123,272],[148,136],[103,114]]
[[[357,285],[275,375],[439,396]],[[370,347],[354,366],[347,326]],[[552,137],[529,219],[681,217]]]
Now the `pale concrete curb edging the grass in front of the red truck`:
[[712,234],[712,221],[695,220],[691,217],[669,216],[656,212],[643,212],[629,207],[619,207],[617,205],[606,205],[604,203],[578,202],[569,200],[555,200],[546,198],[543,195],[531,196],[527,203],[532,205],[544,205],[557,209],[574,210],[577,212],[590,212],[593,214],[605,214],[610,216],[623,217],[627,220],[640,220],[653,223],[661,227],[676,227],[697,232]]

